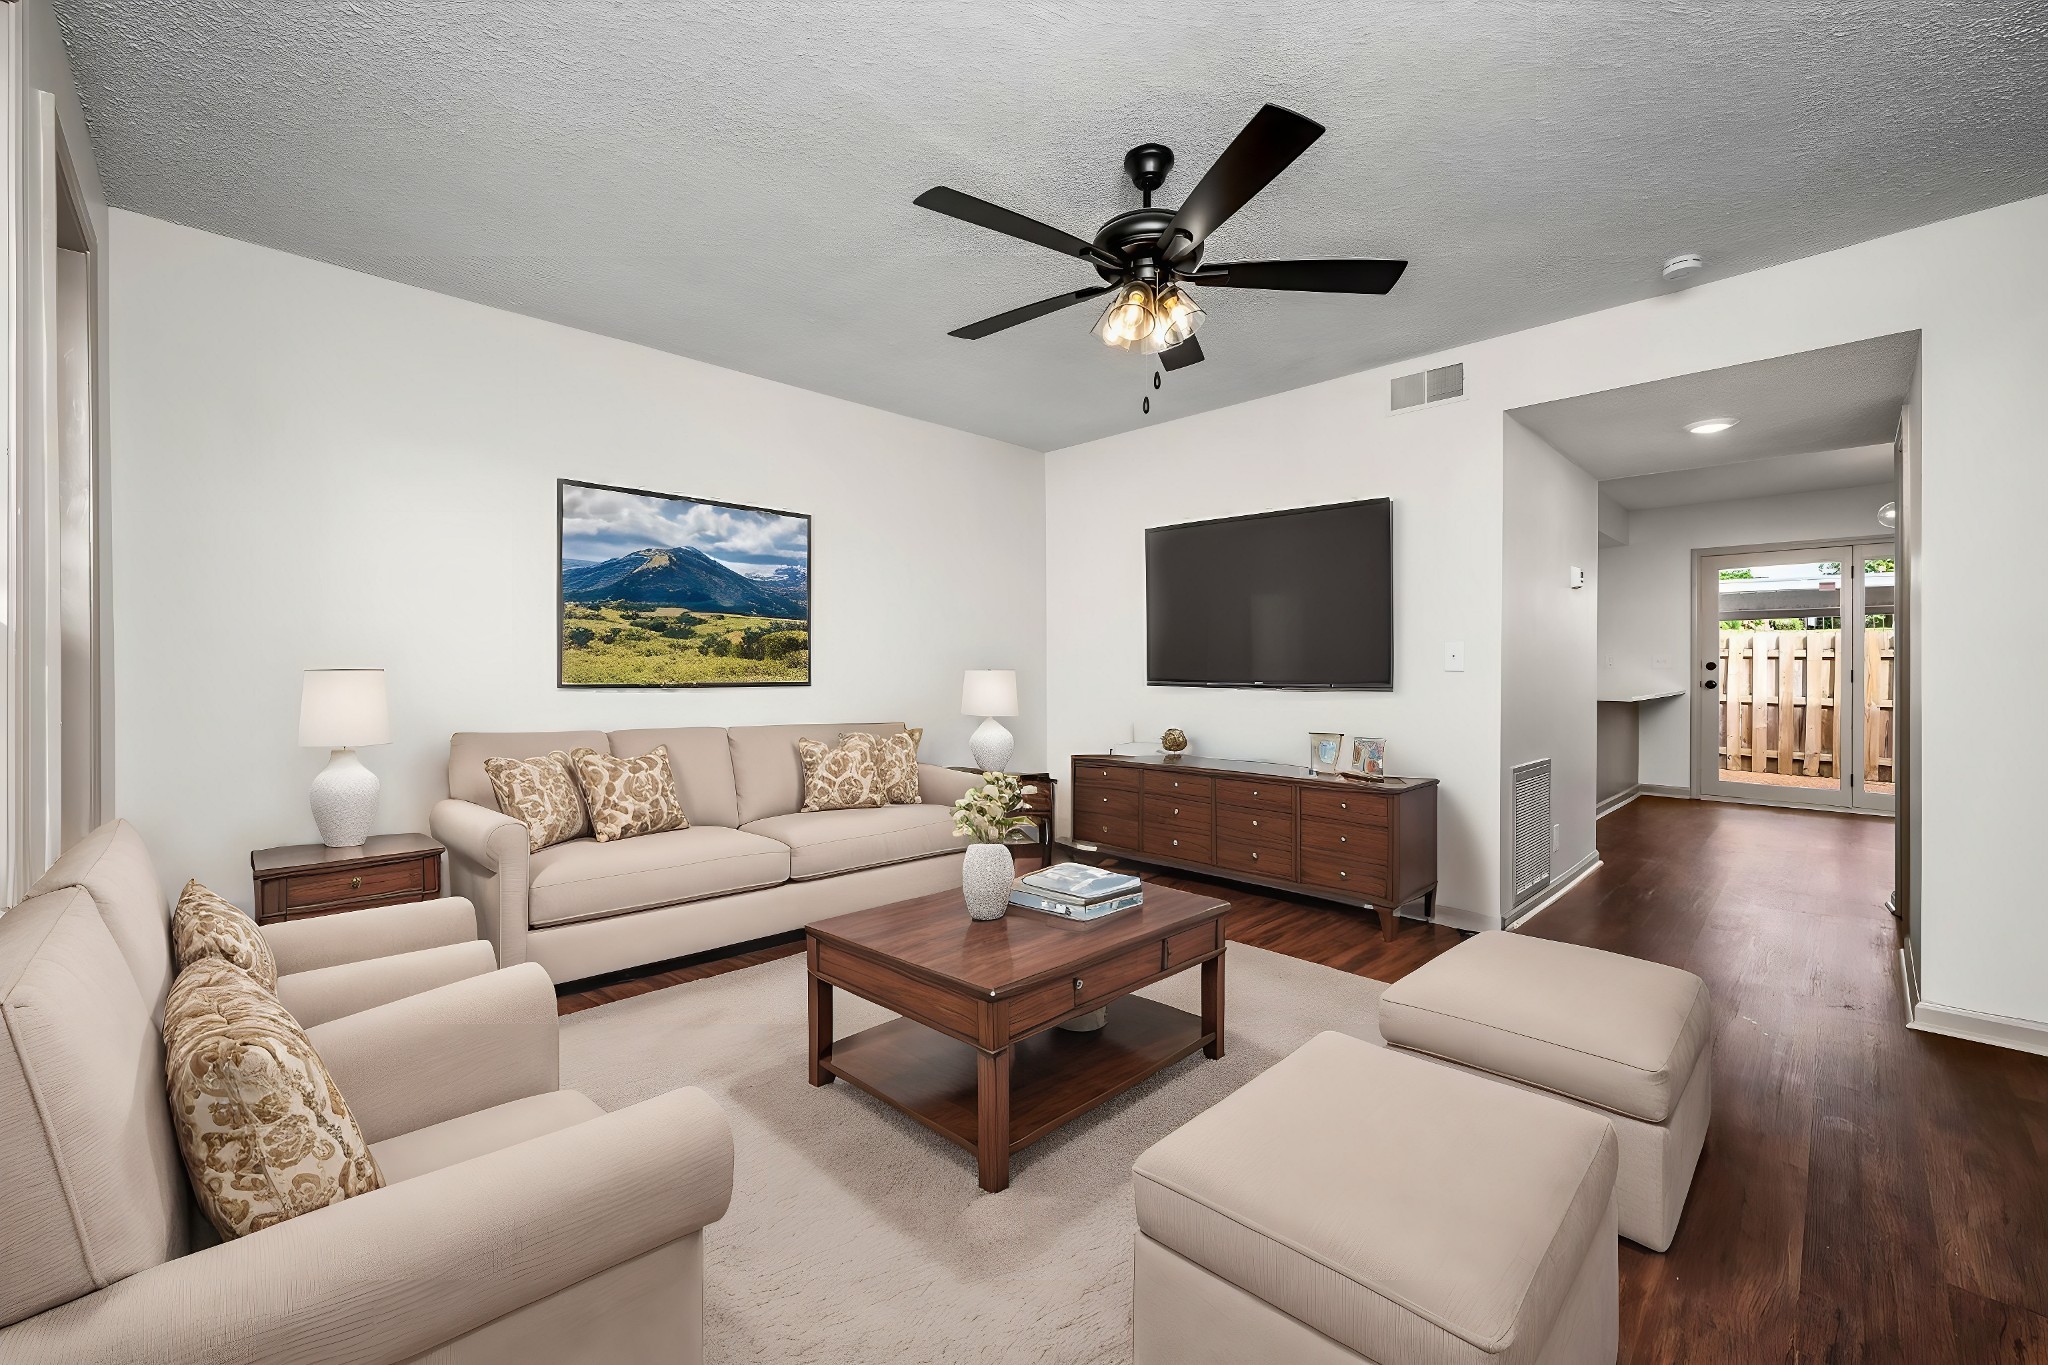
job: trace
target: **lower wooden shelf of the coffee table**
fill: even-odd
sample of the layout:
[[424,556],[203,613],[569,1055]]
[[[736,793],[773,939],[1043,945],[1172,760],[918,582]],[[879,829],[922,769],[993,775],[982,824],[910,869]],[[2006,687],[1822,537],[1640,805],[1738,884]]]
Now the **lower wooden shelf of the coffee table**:
[[[1010,1048],[1012,1152],[1217,1042],[1184,1009],[1126,995],[1094,1033],[1051,1027]],[[981,1146],[977,1048],[909,1019],[834,1040],[819,1066],[901,1109],[940,1138]]]

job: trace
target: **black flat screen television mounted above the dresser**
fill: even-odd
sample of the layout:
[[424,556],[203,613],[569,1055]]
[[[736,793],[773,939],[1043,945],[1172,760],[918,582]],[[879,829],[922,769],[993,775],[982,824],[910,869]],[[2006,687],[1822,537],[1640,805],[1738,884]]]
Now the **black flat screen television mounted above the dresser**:
[[1389,501],[1149,528],[1145,675],[1169,688],[1391,690]]

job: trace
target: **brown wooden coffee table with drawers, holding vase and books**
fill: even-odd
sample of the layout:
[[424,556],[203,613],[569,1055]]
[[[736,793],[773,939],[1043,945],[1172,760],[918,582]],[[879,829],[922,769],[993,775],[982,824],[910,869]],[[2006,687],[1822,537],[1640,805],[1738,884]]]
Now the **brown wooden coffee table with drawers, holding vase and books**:
[[[1223,915],[1229,902],[1145,886],[1145,905],[1094,923],[1038,911],[973,921],[948,890],[805,927],[811,1085],[852,1081],[1010,1187],[1010,1154],[1182,1060],[1223,1056]],[[1202,1013],[1130,995],[1202,968]],[[831,988],[891,1019],[831,1040]],[[1057,1029],[1108,1007],[1092,1033]]]

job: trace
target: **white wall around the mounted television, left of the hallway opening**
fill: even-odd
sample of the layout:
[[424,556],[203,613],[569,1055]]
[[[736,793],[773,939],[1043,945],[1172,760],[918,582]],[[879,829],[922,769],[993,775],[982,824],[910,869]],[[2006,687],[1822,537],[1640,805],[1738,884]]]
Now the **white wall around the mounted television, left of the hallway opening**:
[[[1440,915],[1497,923],[1499,424],[1475,401],[1391,415],[1384,379],[1354,375],[1049,454],[1053,769],[1169,724],[1194,753],[1286,763],[1311,731],[1384,737],[1391,772],[1442,778]],[[1393,499],[1393,692],[1145,686],[1147,526],[1360,497]]]

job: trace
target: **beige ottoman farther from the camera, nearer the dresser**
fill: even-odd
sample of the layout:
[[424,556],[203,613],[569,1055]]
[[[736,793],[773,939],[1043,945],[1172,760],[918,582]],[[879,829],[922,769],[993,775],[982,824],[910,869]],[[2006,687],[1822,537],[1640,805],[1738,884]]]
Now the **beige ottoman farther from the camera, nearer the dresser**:
[[1389,1044],[1608,1115],[1620,1230],[1651,1250],[1671,1246],[1706,1142],[1712,1031],[1692,972],[1520,933],[1479,933],[1380,997]]

